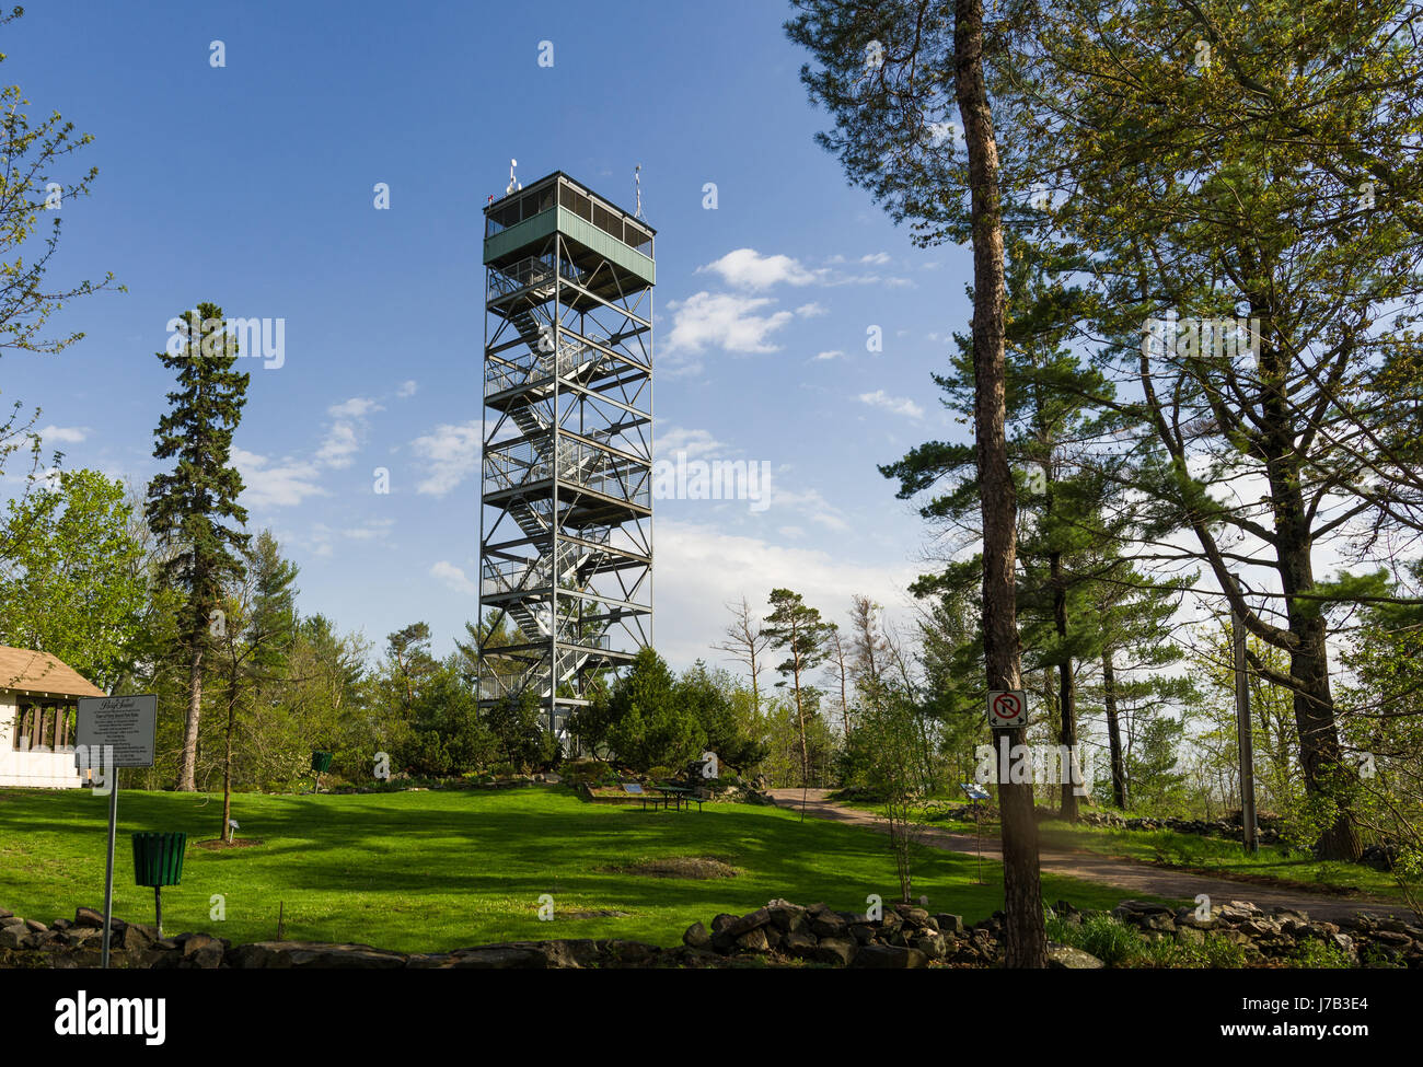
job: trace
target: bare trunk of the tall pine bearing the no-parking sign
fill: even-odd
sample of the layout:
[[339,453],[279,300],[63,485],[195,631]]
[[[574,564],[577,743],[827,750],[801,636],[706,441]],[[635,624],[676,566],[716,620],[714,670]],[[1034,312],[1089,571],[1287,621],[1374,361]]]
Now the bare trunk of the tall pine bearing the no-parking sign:
[[[983,656],[989,689],[1020,689],[1017,606],[1017,498],[1007,465],[1003,366],[1003,229],[998,144],[983,81],[983,1],[955,0],[953,91],[969,156],[973,230],[973,408],[983,511]],[[1009,745],[1025,730],[1002,730]],[[996,741],[998,738],[995,738]],[[999,784],[1003,848],[1003,942],[1009,967],[1047,965],[1037,871],[1033,787]]]

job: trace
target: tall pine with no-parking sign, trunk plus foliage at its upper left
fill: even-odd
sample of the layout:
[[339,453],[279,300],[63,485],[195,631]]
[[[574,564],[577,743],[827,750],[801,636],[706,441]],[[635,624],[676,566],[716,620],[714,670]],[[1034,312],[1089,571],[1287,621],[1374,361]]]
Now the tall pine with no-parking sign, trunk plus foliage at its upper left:
[[[820,144],[840,156],[850,181],[869,189],[895,221],[911,219],[924,245],[953,239],[973,249],[983,664],[992,689],[1019,689],[1017,497],[1003,407],[1003,235],[1016,213],[1015,201],[1026,191],[1010,164],[1015,139],[995,134],[988,84],[1002,51],[1002,24],[1012,23],[1023,6],[995,7],[993,21],[985,18],[983,0],[795,0],[794,6],[797,16],[787,33],[818,64],[803,67],[801,80],[835,120],[834,132],[817,135]],[[962,152],[958,129],[963,131]],[[1023,741],[1023,730],[1007,733],[1012,744]],[[1032,791],[1009,782],[999,802],[1007,965],[1043,967],[1047,940]]]

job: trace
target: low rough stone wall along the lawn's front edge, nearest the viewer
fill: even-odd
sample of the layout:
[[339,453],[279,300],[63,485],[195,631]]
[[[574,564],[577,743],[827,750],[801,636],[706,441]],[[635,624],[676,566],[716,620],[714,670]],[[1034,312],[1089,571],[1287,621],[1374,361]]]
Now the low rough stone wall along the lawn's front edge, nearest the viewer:
[[[1080,923],[1103,912],[1054,906],[1059,919]],[[1400,919],[1359,915],[1348,922],[1312,922],[1303,912],[1265,912],[1232,901],[1208,919],[1191,908],[1123,901],[1110,915],[1143,938],[1198,942],[1207,935],[1241,946],[1248,966],[1279,966],[1311,940],[1342,952],[1355,966],[1423,969],[1423,929]],[[887,905],[878,919],[837,912],[824,903],[804,908],[770,901],[746,915],[717,915],[707,926],[694,922],[677,947],[619,939],[504,942],[438,953],[403,953],[370,945],[259,942],[232,945],[206,933],[158,938],[152,926],[115,919],[112,965],[118,967],[360,967],[360,969],[545,969],[545,967],[726,967],[805,966],[906,969],[1002,965],[1002,912],[966,925],[949,912],[929,913],[909,905]],[[0,967],[97,967],[102,916],[80,908],[74,920],[53,925],[20,919],[0,908]],[[1080,949],[1050,947],[1053,967],[1106,966]]]

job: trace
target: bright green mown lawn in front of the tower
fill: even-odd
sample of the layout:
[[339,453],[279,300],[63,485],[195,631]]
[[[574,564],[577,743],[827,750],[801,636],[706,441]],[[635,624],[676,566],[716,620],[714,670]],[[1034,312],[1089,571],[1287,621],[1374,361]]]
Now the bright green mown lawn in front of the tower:
[[[488,791],[272,797],[242,794],[233,817],[249,848],[206,849],[221,797],[124,791],[114,912],[152,922],[152,891],[134,885],[128,835],[186,831],[182,885],[164,891],[164,929],[211,930],[233,942],[276,936],[285,905],[293,940],[353,940],[406,952],[514,939],[635,938],[675,945],[689,923],[743,913],[783,896],[864,911],[898,896],[882,834],[791,811],[709,804],[702,812],[593,805],[562,787]],[[101,906],[108,802],[87,790],[0,790],[0,905],[51,922]],[[628,874],[650,859],[712,856],[734,878]],[[1002,869],[925,849],[914,895],[931,911],[978,920],[1002,906]],[[226,919],[209,918],[213,893]],[[555,919],[538,919],[551,893]],[[1110,908],[1124,892],[1043,878],[1043,898]],[[618,911],[626,916],[571,918]]]

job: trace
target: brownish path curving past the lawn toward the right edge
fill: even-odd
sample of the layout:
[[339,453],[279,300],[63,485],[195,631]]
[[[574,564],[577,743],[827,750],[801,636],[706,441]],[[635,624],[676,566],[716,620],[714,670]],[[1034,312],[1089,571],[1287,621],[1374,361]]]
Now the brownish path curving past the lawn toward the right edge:
[[[845,822],[852,827],[867,827],[879,832],[888,832],[885,821],[872,811],[850,808],[844,804],[828,801],[825,800],[828,792],[830,790],[810,790],[805,800],[805,814],[834,822]],[[800,808],[801,805],[800,790],[771,790],[771,797],[783,808]],[[925,827],[924,842],[932,848],[942,848],[946,852],[966,852],[969,855],[976,855],[979,848],[978,839],[972,835],[951,834],[933,827]],[[995,862],[1002,861],[1003,855],[999,849],[998,838],[983,838],[983,858]],[[1093,852],[1040,849],[1039,864],[1049,874],[1069,875],[1089,882],[1118,886],[1124,891],[1126,896],[1163,896],[1168,901],[1194,901],[1198,893],[1207,893],[1217,903],[1249,901],[1266,911],[1275,905],[1281,905],[1308,912],[1312,919],[1333,922],[1346,919],[1355,912],[1393,915],[1413,923],[1419,920],[1407,908],[1372,898],[1328,896],[1325,893],[1279,889],[1228,878],[1168,871],[1151,864],[1103,856]]]

